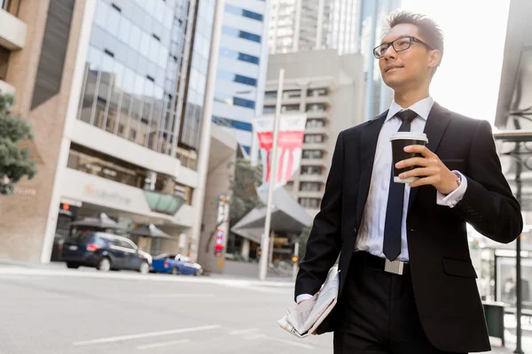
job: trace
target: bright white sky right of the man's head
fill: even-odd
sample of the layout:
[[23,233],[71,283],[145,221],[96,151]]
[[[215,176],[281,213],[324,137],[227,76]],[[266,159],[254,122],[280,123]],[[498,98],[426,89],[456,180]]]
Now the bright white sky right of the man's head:
[[510,0],[403,0],[434,19],[445,35],[431,96],[469,117],[495,120]]

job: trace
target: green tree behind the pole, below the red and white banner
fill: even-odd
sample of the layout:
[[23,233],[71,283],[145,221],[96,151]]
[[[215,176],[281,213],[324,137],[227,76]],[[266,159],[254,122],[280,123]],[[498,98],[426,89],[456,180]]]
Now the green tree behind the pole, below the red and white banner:
[[231,177],[229,219],[231,225],[234,225],[248,212],[264,204],[255,190],[262,183],[262,165],[251,165],[251,161],[246,158],[237,158],[232,164],[235,166],[235,171]]

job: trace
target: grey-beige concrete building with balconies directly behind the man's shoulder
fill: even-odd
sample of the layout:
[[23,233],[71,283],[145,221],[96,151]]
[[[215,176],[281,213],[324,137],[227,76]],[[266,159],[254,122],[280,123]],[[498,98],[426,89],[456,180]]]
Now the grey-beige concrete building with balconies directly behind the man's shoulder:
[[275,112],[284,68],[282,112],[306,112],[301,168],[286,185],[311,216],[319,210],[332,151],[341,130],[364,121],[364,58],[313,50],[270,56],[264,113]]

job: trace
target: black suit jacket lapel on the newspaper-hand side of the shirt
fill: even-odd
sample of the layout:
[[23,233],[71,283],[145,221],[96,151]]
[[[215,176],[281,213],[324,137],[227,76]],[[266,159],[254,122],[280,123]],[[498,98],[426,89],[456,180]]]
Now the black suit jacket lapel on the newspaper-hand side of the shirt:
[[361,175],[358,185],[358,199],[356,201],[356,227],[360,226],[360,221],[362,220],[364,206],[372,181],[373,161],[375,160],[375,150],[377,150],[380,128],[384,124],[386,117],[387,111],[369,121],[361,132],[359,147]]

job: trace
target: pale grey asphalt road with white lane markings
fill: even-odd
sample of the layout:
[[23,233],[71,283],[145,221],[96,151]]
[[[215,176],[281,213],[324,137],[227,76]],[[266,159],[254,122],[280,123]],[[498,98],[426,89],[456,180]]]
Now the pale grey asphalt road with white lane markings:
[[276,321],[286,283],[165,274],[0,269],[0,353],[331,353]]

